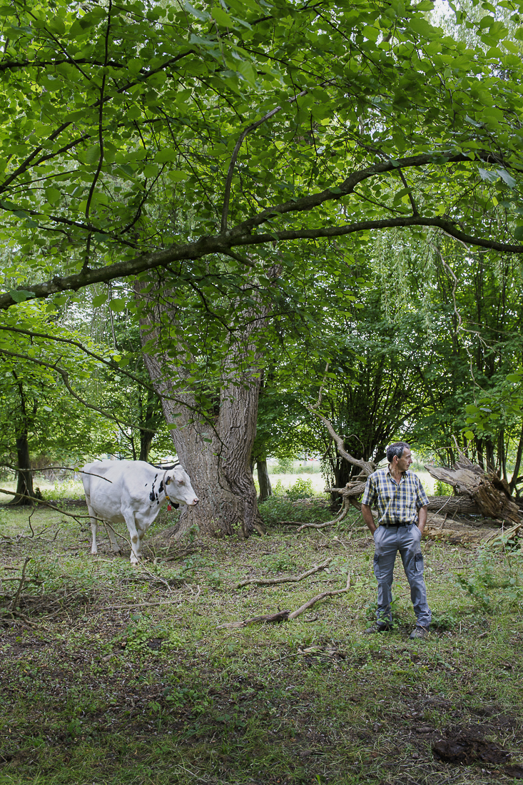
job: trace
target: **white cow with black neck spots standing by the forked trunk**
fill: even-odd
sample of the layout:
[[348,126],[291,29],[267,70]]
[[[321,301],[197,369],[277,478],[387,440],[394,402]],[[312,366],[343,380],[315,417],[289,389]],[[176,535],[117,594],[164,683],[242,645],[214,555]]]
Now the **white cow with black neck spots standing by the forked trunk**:
[[[144,461],[95,461],[83,467],[82,483],[93,532],[91,553],[98,553],[98,520],[109,524],[125,521],[132,545],[131,564],[137,564],[141,540],[166,501],[188,506],[199,502],[181,466],[163,471]],[[108,532],[112,550],[119,553],[112,526]]]

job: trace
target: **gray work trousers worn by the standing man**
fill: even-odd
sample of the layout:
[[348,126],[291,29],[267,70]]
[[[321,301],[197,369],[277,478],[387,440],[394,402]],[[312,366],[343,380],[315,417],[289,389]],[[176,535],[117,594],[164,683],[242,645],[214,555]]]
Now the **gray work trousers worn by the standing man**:
[[426,601],[426,586],[423,580],[423,554],[421,551],[421,532],[415,524],[408,526],[379,526],[374,533],[375,554],[374,574],[378,581],[379,623],[392,621],[390,603],[394,562],[399,551],[408,585],[411,587],[411,601],[418,624],[430,625],[432,616]]

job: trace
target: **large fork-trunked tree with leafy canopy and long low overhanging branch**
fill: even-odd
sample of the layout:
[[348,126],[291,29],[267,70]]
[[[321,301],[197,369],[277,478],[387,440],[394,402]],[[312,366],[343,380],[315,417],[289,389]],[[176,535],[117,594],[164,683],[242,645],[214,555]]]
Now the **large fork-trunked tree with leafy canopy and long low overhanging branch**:
[[[3,8],[0,231],[16,258],[0,307],[141,276],[133,305],[161,345],[155,357],[148,342],[149,370],[170,425],[185,425],[177,450],[192,460],[198,444],[214,487],[226,477],[203,527],[220,509],[232,510],[225,531],[258,520],[245,463],[264,330],[309,243],[340,265],[387,228],[523,251],[518,47],[493,17],[483,48],[456,42],[426,20],[431,8]],[[202,333],[216,340],[212,379]]]

